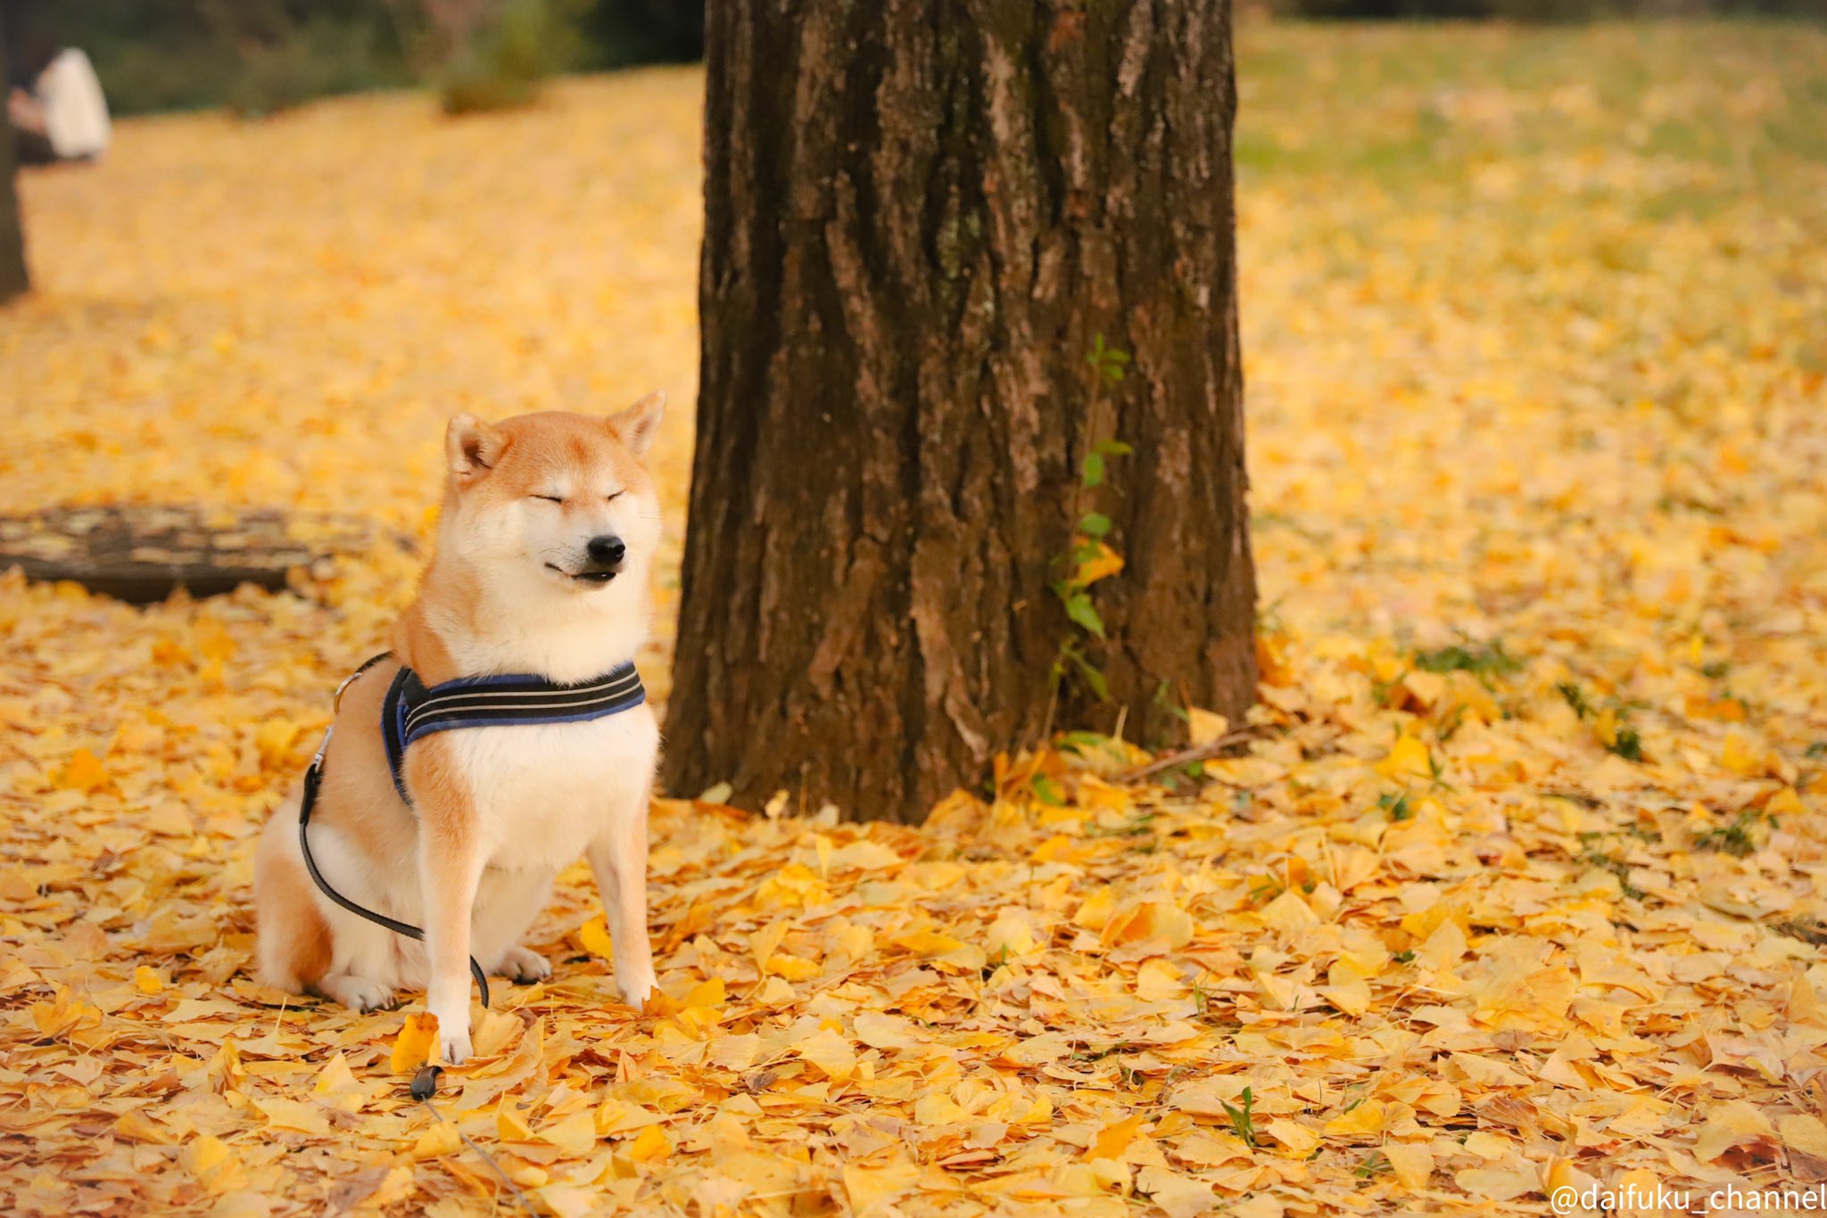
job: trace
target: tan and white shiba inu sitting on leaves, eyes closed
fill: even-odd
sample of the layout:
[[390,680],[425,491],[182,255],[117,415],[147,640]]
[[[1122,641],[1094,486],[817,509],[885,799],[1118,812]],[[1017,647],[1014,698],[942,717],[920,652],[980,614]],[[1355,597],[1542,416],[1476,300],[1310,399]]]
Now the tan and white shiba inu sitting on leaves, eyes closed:
[[[599,718],[565,721],[550,705],[596,698],[590,690],[614,685],[605,674],[625,690],[647,637],[660,500],[643,458],[663,407],[656,393],[608,418],[449,422],[437,553],[391,656],[338,699],[322,771],[307,778],[309,847],[300,800],[276,809],[261,835],[261,981],[356,1010],[424,986],[444,1061],[460,1063],[470,959],[515,981],[548,977],[521,937],[554,877],[585,853],[616,986],[634,1006],[647,1001],[647,802],[660,730],[638,677],[634,705],[625,698]],[[523,677],[550,687],[543,718],[515,701]],[[428,687],[431,707],[395,705],[396,690]],[[490,718],[426,729],[438,705]],[[351,913],[325,886],[422,926],[424,942]]]

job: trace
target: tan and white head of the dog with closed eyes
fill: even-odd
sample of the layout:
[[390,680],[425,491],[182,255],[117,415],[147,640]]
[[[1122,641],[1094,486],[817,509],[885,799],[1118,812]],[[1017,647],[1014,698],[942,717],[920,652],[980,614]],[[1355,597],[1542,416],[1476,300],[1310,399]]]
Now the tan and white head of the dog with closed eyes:
[[660,499],[643,458],[665,404],[650,393],[607,418],[543,411],[484,424],[459,415],[444,436],[442,546],[490,573],[576,595],[645,575],[660,544]]

